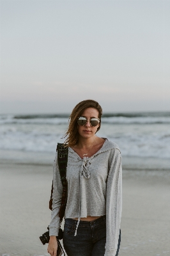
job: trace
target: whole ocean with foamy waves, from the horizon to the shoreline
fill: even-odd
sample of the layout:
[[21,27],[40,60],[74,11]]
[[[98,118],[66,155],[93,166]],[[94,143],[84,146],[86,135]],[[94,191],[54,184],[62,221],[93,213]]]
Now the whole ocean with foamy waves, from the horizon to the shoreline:
[[[1,150],[56,151],[69,115],[0,115]],[[168,159],[170,112],[105,113],[97,135],[116,142],[122,156]],[[8,151],[6,151],[8,152]]]

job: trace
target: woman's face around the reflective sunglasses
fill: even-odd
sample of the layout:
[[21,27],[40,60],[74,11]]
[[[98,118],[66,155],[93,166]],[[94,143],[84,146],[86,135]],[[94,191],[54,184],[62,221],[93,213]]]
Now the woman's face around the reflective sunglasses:
[[91,126],[89,120],[92,117],[98,118],[98,110],[95,108],[86,108],[81,116],[85,116],[88,122],[85,125],[78,125],[79,135],[83,138],[90,138],[95,135],[97,128],[100,126],[100,123],[97,126]]

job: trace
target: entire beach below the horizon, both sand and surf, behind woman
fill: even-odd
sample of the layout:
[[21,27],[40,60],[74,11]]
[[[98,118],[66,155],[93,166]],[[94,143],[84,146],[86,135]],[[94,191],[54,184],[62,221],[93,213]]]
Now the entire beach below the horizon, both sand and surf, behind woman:
[[[56,145],[67,115],[0,115],[0,256],[45,256]],[[170,113],[110,113],[97,136],[123,164],[119,256],[170,255]],[[81,256],[81,255],[80,255]]]

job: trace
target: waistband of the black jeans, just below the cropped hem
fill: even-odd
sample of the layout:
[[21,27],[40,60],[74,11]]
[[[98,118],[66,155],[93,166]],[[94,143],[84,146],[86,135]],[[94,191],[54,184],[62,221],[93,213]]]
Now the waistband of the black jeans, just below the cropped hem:
[[[100,225],[101,223],[105,223],[105,220],[106,220],[106,216],[101,216],[100,218],[97,218],[96,220],[92,220],[92,221],[84,221],[84,220],[81,220],[79,222],[79,227],[91,227],[91,226],[98,226]],[[77,225],[77,220],[73,220],[73,219],[70,219],[70,218],[67,218],[65,219],[65,223],[67,225]]]

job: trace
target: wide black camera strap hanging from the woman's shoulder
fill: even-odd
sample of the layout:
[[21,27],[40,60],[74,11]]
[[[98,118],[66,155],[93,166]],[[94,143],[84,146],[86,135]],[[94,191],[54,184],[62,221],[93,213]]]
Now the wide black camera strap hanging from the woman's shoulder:
[[[63,184],[61,206],[59,208],[59,218],[61,222],[63,220],[63,217],[65,216],[66,200],[67,200],[66,166],[68,162],[68,147],[64,147],[63,143],[58,143],[58,147],[56,148],[56,151],[58,152],[59,174],[61,177],[61,182]],[[52,211],[52,193],[53,193],[53,180],[52,180],[52,188],[51,188],[50,201],[49,201],[49,209],[51,211]]]

